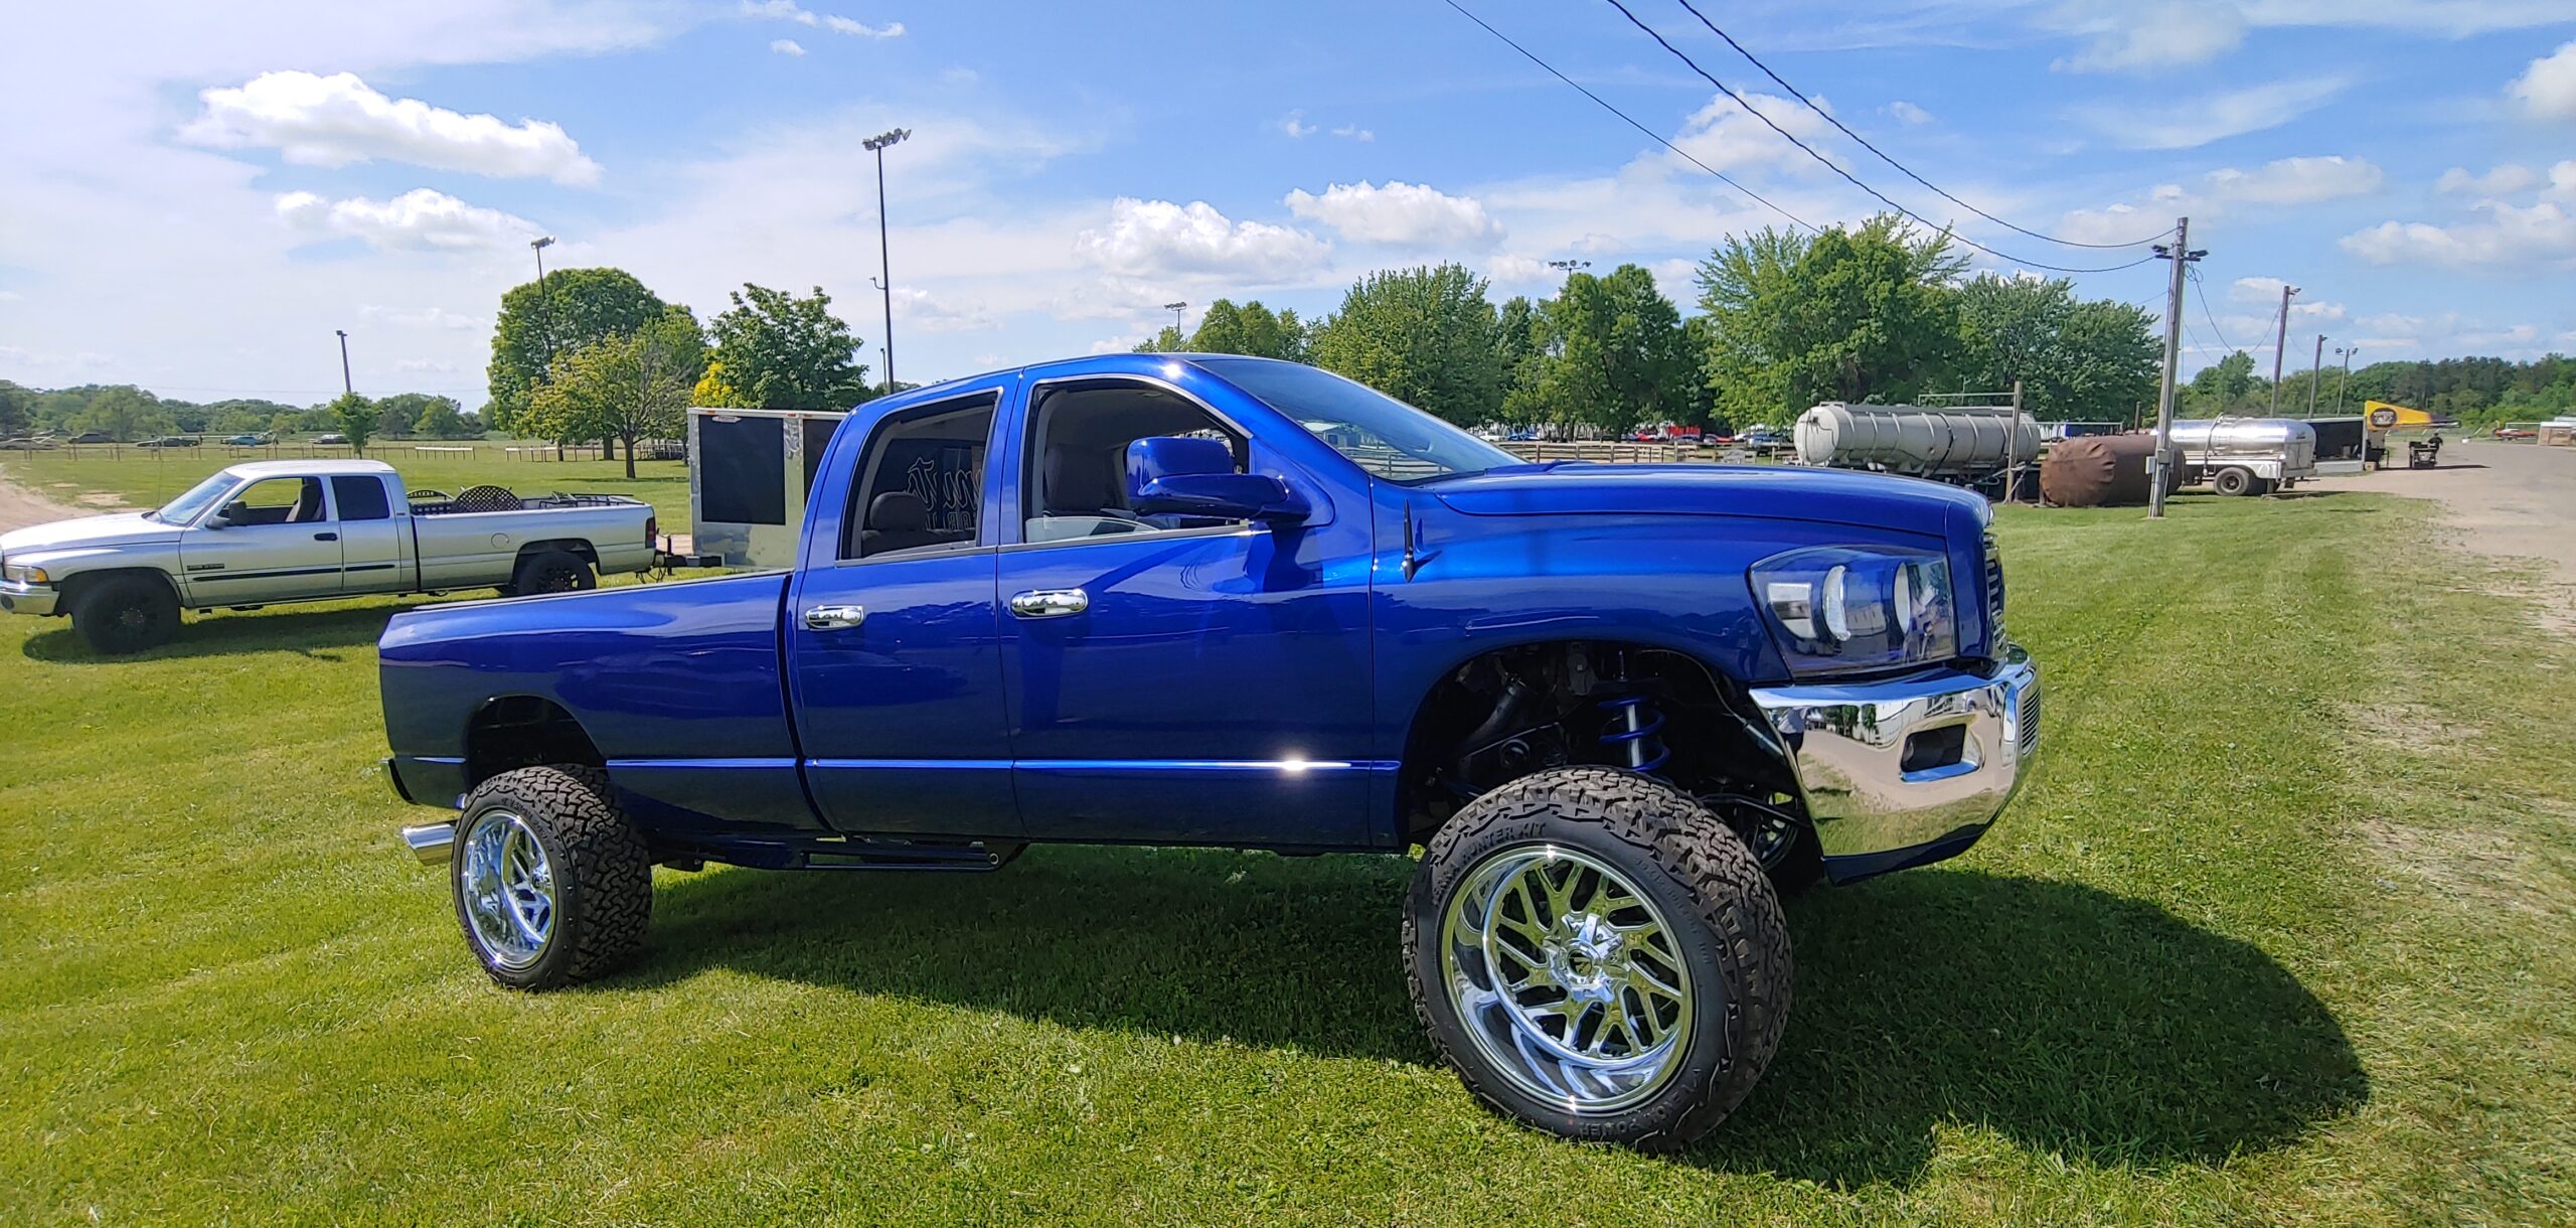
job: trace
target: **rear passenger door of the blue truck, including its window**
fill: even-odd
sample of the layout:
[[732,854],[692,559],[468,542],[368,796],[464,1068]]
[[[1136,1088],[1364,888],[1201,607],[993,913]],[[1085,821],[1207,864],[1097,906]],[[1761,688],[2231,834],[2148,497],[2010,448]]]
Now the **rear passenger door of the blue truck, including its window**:
[[[1015,376],[837,438],[788,590],[806,785],[842,832],[1018,837],[984,456]],[[832,481],[829,476],[824,481]]]

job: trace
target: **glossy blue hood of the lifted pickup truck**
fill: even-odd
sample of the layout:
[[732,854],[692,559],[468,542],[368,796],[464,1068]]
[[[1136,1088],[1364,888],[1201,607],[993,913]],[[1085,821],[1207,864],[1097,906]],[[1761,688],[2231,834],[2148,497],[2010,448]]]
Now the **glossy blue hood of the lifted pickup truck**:
[[1945,535],[1986,499],[1940,481],[1806,466],[1538,463],[1419,487],[1466,515],[1741,515]]

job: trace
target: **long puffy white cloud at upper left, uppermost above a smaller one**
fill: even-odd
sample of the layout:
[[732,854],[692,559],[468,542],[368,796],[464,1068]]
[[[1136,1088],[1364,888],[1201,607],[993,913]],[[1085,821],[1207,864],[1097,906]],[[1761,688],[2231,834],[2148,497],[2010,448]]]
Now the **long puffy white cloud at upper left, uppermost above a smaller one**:
[[564,129],[541,118],[507,124],[417,98],[386,98],[355,72],[263,72],[240,88],[206,90],[206,113],[180,136],[219,149],[273,147],[312,167],[392,160],[433,170],[598,183],[600,165]]

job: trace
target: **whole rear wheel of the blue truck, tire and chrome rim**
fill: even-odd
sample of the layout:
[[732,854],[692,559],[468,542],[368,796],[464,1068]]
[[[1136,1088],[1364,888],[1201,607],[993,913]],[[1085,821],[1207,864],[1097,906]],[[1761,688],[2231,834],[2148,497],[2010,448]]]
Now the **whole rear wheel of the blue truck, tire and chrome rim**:
[[520,767],[466,795],[448,852],[456,924],[492,981],[559,989],[644,950],[652,850],[598,767]]

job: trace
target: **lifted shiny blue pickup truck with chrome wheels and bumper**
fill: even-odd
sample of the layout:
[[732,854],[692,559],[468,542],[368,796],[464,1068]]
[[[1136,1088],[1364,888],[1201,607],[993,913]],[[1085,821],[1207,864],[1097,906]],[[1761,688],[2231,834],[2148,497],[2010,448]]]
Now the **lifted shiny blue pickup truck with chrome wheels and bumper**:
[[1788,1019],[1780,893],[1973,844],[2038,747],[1984,499],[1522,463],[1334,373],[1113,355],[868,402],[783,572],[394,615],[386,759],[502,986],[652,868],[1419,847],[1404,963],[1497,1110],[1682,1146]]

